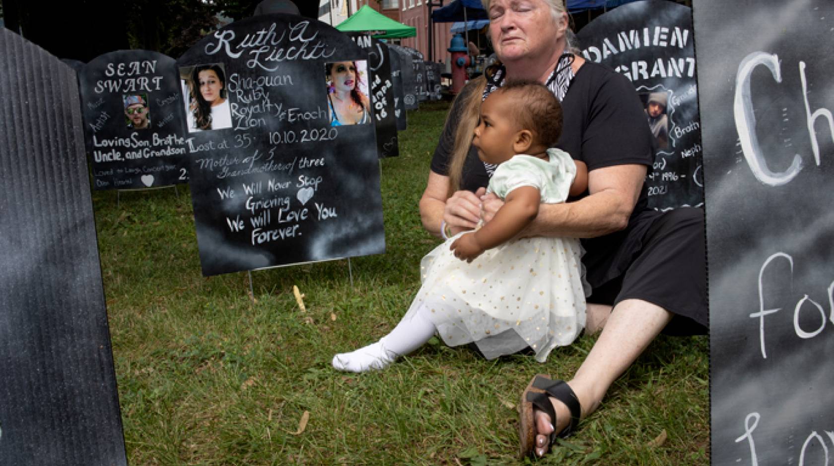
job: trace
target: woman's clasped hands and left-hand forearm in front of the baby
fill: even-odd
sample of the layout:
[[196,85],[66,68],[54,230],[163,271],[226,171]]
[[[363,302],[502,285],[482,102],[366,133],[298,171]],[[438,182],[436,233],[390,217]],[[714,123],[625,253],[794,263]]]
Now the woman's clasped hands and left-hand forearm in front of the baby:
[[429,181],[420,197],[420,221],[423,222],[423,228],[438,238],[443,237],[440,232],[443,221],[450,235],[471,230],[480,221],[480,196],[483,196],[484,188],[475,193],[457,191],[449,197],[449,183],[449,176],[430,171]]

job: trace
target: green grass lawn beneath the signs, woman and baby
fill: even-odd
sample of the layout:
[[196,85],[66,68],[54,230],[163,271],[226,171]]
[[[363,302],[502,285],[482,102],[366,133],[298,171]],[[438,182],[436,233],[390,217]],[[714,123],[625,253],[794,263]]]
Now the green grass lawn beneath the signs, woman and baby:
[[[516,405],[540,372],[569,377],[583,336],[546,364],[426,345],[344,374],[333,354],[391,330],[437,244],[418,201],[447,104],[409,112],[381,161],[384,255],[205,278],[187,186],[93,194],[128,458],[176,464],[525,464]],[[304,293],[306,312],[292,293]],[[709,462],[705,337],[659,337],[600,410],[540,464]],[[299,433],[304,413],[309,421]],[[666,433],[666,441],[654,440]]]

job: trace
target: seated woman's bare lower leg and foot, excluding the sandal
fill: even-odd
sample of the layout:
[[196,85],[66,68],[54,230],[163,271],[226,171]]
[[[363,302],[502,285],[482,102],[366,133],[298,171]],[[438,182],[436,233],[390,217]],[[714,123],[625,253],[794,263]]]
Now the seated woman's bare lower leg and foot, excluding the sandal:
[[[672,314],[643,300],[624,300],[610,313],[605,327],[585,361],[568,384],[582,405],[581,418],[593,413],[614,380],[628,369],[644,349],[669,323]],[[548,435],[561,432],[570,422],[565,404],[550,399],[556,412],[556,425],[542,411],[535,413],[535,454],[545,453]]]

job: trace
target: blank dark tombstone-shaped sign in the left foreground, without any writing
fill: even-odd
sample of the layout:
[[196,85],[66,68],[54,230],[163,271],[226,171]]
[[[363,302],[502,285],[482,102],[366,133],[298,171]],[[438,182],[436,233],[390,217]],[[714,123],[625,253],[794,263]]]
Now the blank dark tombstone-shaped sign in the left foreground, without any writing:
[[0,464],[128,464],[76,72],[0,27]]

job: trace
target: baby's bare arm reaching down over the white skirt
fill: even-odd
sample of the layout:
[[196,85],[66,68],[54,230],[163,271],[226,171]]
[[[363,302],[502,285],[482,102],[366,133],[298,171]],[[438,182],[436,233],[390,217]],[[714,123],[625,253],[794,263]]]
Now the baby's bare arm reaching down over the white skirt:
[[539,213],[540,191],[534,186],[521,186],[507,195],[507,201],[492,220],[475,231],[462,235],[451,245],[455,257],[471,262],[485,250],[511,240],[529,225]]

